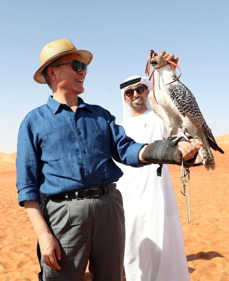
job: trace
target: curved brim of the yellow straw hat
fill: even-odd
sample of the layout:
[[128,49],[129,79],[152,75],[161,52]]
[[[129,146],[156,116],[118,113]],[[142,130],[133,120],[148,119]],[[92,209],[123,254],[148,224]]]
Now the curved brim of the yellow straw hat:
[[50,58],[48,61],[46,61],[34,74],[33,79],[40,84],[46,84],[46,81],[44,79],[44,76],[42,74],[43,69],[52,61],[55,61],[57,58],[60,58],[61,56],[67,55],[67,54],[78,54],[80,58],[82,59],[82,62],[85,63],[86,65],[89,65],[90,62],[92,61],[93,55],[91,52],[86,51],[86,50],[72,50],[72,51],[66,51],[61,54],[58,54],[56,56],[53,56]]

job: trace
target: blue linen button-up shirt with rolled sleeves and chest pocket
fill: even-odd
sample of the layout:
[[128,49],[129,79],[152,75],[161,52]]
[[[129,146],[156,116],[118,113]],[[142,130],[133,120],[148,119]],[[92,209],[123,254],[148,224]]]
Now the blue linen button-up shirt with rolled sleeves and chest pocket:
[[132,167],[149,164],[138,158],[145,144],[126,136],[110,112],[78,100],[73,112],[50,96],[21,122],[16,159],[20,206],[40,202],[39,189],[55,195],[117,181],[123,172],[113,159]]

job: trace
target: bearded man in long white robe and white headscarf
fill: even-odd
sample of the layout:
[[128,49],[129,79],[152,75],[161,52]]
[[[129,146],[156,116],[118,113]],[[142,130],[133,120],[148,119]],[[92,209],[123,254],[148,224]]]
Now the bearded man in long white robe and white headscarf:
[[[166,137],[163,120],[155,115],[148,102],[152,83],[140,76],[129,77],[124,82],[120,85],[124,109],[121,125],[126,134],[140,143],[152,143]],[[133,95],[128,97],[125,92],[132,88],[134,91],[127,93]],[[161,177],[157,176],[157,164],[138,169],[120,167],[124,172],[118,189],[125,210],[126,280],[190,280],[168,165],[163,165]]]

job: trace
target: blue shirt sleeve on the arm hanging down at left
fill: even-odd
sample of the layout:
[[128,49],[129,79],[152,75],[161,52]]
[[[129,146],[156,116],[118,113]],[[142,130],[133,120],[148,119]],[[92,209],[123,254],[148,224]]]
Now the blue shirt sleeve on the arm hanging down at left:
[[21,122],[17,139],[17,190],[20,206],[23,201],[40,202],[39,193],[39,152],[36,136],[33,135],[27,118]]

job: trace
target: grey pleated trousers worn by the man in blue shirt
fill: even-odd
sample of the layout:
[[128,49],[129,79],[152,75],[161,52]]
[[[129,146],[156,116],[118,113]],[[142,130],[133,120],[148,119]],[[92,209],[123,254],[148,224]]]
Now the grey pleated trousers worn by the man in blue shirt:
[[43,213],[61,249],[61,270],[42,258],[44,281],[82,281],[88,260],[92,281],[122,280],[125,217],[119,190],[78,201],[45,198]]

